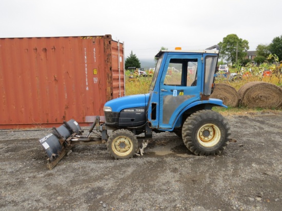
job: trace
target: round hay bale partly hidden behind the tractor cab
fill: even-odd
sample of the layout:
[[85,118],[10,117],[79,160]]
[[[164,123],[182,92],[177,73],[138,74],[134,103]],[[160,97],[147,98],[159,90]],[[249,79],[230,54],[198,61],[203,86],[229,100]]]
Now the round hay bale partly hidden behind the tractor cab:
[[225,83],[216,83],[210,97],[220,99],[230,107],[237,107],[239,102],[239,95],[235,88]]

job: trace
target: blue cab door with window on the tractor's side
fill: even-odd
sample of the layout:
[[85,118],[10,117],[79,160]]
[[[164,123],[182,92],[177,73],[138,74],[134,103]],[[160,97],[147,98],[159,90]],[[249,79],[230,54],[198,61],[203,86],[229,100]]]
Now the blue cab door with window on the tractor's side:
[[168,55],[159,81],[159,129],[172,129],[180,111],[200,99],[202,54]]

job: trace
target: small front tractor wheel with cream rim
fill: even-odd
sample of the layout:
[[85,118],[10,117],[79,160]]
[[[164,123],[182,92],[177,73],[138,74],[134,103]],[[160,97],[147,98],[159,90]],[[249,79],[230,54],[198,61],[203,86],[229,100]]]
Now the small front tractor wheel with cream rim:
[[131,131],[116,130],[109,137],[107,148],[115,159],[128,159],[137,153],[138,140]]

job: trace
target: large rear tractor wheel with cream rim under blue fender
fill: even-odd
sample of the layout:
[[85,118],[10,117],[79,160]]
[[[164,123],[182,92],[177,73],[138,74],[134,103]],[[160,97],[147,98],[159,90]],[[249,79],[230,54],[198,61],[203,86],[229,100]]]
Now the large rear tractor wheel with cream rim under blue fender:
[[182,137],[188,150],[196,155],[219,155],[229,143],[231,130],[223,116],[201,110],[185,120]]

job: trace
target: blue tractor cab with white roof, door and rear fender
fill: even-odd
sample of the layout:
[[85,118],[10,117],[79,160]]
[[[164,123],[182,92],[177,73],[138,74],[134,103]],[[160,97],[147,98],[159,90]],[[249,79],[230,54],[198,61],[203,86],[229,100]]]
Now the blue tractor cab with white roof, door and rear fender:
[[222,106],[221,101],[209,101],[218,50],[160,51],[156,56],[148,104],[152,128],[170,131],[180,126],[179,117],[192,107],[205,108],[206,103]]

